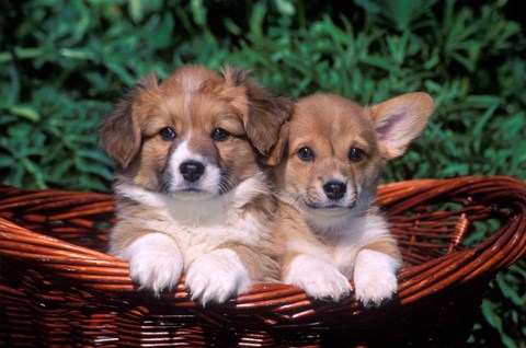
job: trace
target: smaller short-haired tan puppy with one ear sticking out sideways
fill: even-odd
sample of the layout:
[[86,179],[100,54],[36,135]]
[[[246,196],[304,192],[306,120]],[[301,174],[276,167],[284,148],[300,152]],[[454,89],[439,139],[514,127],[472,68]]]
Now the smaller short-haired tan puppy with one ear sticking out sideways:
[[397,291],[401,254],[374,204],[377,184],[385,163],[422,132],[433,107],[425,93],[365,108],[336,95],[298,101],[285,159],[275,167],[283,281],[338,301],[352,290],[353,277],[366,305]]

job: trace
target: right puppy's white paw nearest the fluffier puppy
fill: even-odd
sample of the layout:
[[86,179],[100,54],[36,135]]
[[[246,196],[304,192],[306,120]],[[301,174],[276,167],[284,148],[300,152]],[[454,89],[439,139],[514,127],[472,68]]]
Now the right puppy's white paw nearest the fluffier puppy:
[[285,282],[299,286],[310,298],[336,302],[352,290],[347,278],[336,266],[307,254],[294,258]]

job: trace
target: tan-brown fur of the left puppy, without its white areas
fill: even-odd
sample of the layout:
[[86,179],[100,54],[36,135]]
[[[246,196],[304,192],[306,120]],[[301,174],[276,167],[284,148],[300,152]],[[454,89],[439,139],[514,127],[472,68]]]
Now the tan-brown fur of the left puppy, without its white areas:
[[[161,83],[155,74],[138,81],[100,127],[102,147],[118,164],[116,186],[140,188],[148,195],[163,197],[169,159],[183,141],[187,142],[188,151],[228,174],[231,190],[245,179],[264,177],[265,162],[279,140],[293,104],[286,98],[270,96],[248,79],[247,73],[231,67],[217,73],[204,67],[186,66]],[[176,134],[173,140],[160,137],[159,131],[164,127],[173,128]],[[216,128],[228,131],[226,141],[210,137]],[[239,219],[255,219],[262,225],[261,235],[251,236],[250,244],[232,242],[236,236],[229,236],[228,241],[214,242],[217,248],[237,253],[251,281],[276,280],[277,248],[268,227],[276,201],[271,190],[261,189],[242,207],[231,207],[231,211],[236,211]],[[117,193],[117,217],[110,251],[117,256],[124,255],[126,248],[144,235],[167,233],[152,228],[156,223],[167,229],[170,225],[165,211],[152,208],[146,200],[127,197],[126,192]],[[167,235],[193,233],[192,229],[192,224],[174,223],[173,231]],[[188,266],[184,265],[184,269]]]

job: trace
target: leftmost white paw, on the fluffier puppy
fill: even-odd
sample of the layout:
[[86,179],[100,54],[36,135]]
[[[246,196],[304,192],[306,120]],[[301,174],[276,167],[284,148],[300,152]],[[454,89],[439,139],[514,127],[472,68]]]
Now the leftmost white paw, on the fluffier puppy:
[[183,257],[178,244],[161,233],[146,234],[134,241],[122,255],[129,263],[129,276],[141,289],[156,295],[172,289],[183,270]]

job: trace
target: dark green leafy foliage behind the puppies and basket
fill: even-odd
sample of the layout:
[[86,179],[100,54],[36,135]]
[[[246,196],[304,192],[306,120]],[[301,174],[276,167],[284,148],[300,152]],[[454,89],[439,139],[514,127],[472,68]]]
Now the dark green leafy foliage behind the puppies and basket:
[[[385,181],[526,179],[526,39],[505,0],[27,0],[0,3],[0,181],[106,190],[101,118],[138,78],[250,68],[276,94],[362,104],[426,91],[432,121]],[[478,243],[491,229],[481,228]],[[499,275],[471,341],[526,341],[524,262]],[[524,325],[524,324],[523,324]]]

